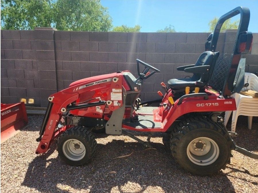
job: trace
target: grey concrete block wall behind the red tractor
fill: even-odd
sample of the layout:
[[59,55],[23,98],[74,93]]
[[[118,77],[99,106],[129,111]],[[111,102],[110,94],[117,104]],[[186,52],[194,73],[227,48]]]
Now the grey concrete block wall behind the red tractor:
[[[78,79],[130,70],[135,59],[146,61],[160,73],[145,80],[142,100],[158,98],[160,82],[191,75],[178,66],[194,64],[209,33],[119,33],[35,30],[1,30],[1,102],[34,98],[46,106],[47,97]],[[217,50],[232,51],[234,31],[221,33]],[[246,71],[258,71],[258,33]]]

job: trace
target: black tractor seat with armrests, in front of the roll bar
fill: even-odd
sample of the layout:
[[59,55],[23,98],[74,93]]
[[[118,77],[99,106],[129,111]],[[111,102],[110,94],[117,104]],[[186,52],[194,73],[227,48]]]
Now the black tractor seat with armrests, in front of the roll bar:
[[205,51],[199,56],[195,64],[176,68],[179,71],[193,73],[193,76],[189,79],[170,79],[168,81],[169,87],[174,92],[184,92],[185,87],[190,87],[191,91],[195,87],[204,89],[209,81],[218,56],[219,52]]

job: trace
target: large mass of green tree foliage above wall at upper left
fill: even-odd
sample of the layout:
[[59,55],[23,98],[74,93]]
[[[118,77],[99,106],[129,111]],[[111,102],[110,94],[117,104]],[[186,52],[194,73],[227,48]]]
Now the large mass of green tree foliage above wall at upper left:
[[108,31],[112,19],[100,0],[1,0],[1,26],[16,30],[55,27]]

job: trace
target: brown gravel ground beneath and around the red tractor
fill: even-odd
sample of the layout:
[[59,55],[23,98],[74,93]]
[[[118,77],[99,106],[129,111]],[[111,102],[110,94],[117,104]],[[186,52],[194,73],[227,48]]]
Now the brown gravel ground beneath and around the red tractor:
[[[29,116],[29,126],[1,144],[1,192],[258,192],[258,160],[234,152],[225,170],[212,176],[192,175],[170,154],[165,133],[151,139],[157,150],[127,136],[96,134],[97,152],[83,167],[69,166],[57,155],[56,143],[44,155],[34,152],[43,116]],[[247,129],[239,117],[236,144],[258,152],[258,119]],[[136,133],[146,140],[147,133]],[[125,158],[113,159],[130,154]]]

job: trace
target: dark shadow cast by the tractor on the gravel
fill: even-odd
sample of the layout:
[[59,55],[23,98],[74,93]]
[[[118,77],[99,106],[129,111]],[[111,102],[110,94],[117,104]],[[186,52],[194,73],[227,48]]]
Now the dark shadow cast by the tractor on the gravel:
[[[97,136],[100,138],[101,135]],[[157,150],[144,150],[137,142],[113,140],[98,144],[92,162],[82,167],[53,158],[56,144],[44,155],[36,156],[22,185],[39,192],[235,192],[227,175],[191,175],[179,168],[169,144],[152,143]],[[143,151],[144,150],[144,151]],[[130,154],[125,158],[117,158]],[[112,172],[113,171],[113,172]],[[110,173],[111,172],[111,173]],[[116,173],[115,173],[116,172]]]

